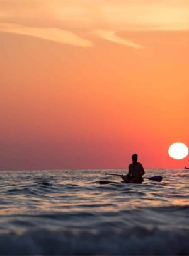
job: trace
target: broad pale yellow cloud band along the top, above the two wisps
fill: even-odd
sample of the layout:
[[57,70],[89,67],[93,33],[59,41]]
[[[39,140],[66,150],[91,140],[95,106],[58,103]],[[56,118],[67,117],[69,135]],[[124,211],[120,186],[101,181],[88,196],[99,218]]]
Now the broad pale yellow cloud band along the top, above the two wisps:
[[0,21],[66,30],[189,30],[188,0],[0,1]]

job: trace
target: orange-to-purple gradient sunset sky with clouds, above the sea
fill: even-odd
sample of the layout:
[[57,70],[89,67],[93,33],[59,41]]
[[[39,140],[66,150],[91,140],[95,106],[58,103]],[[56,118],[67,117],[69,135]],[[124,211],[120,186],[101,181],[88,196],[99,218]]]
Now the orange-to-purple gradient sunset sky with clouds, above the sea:
[[189,1],[0,1],[0,169],[182,168]]

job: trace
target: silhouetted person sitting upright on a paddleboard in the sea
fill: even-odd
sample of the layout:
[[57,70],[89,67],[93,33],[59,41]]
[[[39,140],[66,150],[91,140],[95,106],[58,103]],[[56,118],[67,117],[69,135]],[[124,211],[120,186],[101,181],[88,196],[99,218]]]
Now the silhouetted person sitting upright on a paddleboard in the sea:
[[140,162],[137,162],[138,155],[133,154],[132,155],[132,164],[129,164],[129,171],[127,175],[122,175],[123,181],[126,183],[142,183],[144,180],[142,176],[144,175],[145,171],[140,164]]

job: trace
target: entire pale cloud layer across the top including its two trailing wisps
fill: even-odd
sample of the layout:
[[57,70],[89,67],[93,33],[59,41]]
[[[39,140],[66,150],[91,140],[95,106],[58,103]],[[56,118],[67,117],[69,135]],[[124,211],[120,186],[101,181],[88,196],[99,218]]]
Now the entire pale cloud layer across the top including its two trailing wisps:
[[188,0],[0,0],[0,9],[0,32],[72,46],[92,46],[86,35],[93,32],[101,39],[142,49],[117,32],[189,30]]

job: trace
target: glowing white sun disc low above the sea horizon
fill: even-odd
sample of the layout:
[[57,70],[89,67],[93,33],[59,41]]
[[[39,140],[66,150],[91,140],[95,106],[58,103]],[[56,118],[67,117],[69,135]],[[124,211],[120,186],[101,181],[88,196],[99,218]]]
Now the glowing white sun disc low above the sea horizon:
[[188,147],[184,143],[176,142],[170,145],[168,153],[174,159],[183,159],[188,156]]

